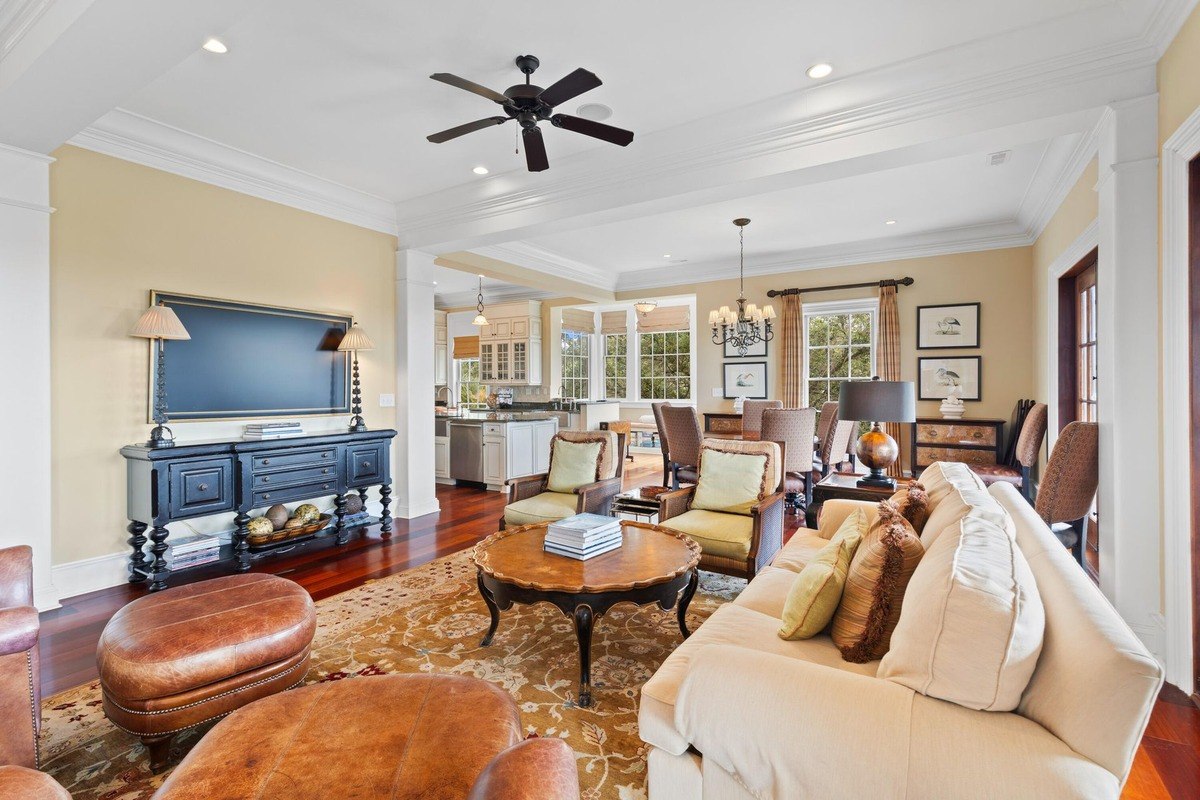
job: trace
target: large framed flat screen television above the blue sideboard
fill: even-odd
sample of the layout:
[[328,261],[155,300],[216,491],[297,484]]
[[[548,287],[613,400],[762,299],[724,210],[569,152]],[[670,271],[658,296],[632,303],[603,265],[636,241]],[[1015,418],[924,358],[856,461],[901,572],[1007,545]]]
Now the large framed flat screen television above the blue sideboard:
[[169,306],[192,337],[166,342],[172,421],[349,413],[349,354],[337,351],[349,315],[166,291],[150,302]]

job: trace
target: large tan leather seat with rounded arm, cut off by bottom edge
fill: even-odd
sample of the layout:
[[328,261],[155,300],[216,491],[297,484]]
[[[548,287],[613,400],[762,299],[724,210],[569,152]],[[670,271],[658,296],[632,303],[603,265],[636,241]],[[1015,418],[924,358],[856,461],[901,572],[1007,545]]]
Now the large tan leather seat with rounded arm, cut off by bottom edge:
[[468,793],[472,800],[577,798],[575,753],[553,738],[522,742],[516,704],[492,684],[407,674],[314,684],[247,705],[205,734],[155,800],[463,800]]

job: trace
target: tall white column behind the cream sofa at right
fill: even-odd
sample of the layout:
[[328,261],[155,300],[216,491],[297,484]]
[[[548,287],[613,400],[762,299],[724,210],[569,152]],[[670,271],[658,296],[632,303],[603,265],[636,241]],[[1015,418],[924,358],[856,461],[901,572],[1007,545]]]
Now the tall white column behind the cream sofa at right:
[[1162,660],[1157,95],[1108,109],[1099,167],[1100,589]]

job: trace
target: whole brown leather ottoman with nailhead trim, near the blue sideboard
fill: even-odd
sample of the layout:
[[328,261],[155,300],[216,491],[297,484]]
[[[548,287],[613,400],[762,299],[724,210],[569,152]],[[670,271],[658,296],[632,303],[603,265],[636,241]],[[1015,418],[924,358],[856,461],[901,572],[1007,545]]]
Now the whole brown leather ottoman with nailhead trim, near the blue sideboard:
[[140,597],[116,612],[96,646],[104,714],[162,769],[176,733],[302,681],[316,630],[308,593],[275,576]]

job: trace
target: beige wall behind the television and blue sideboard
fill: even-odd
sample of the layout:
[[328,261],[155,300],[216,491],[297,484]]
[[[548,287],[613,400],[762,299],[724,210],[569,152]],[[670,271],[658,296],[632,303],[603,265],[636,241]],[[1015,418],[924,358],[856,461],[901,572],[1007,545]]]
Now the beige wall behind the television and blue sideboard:
[[[54,155],[54,564],[125,548],[118,450],[144,440],[150,427],[149,350],[127,331],[150,289],[353,314],[377,347],[360,356],[364,415],[372,427],[394,425],[377,398],[395,391],[395,237],[86,150]],[[287,365],[263,365],[263,379],[287,380]],[[236,437],[244,423],[172,427],[185,440]],[[197,524],[229,529],[229,518]]]

